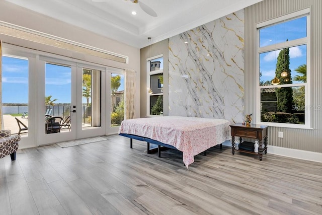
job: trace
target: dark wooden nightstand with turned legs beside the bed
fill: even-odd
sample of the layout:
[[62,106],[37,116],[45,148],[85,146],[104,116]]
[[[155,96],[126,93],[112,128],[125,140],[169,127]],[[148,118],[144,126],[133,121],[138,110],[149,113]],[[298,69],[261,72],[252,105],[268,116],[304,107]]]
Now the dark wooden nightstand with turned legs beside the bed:
[[[231,145],[232,145],[232,154],[235,154],[235,136],[239,136],[239,144],[241,142],[241,137],[249,137],[259,140],[259,148],[258,148],[258,157],[260,161],[263,158],[263,152],[267,154],[267,128],[268,125],[257,125],[257,124],[241,124],[236,123],[230,125],[231,127]],[[263,148],[263,138],[264,138],[264,148]],[[240,152],[257,154],[247,150],[238,150]]]

